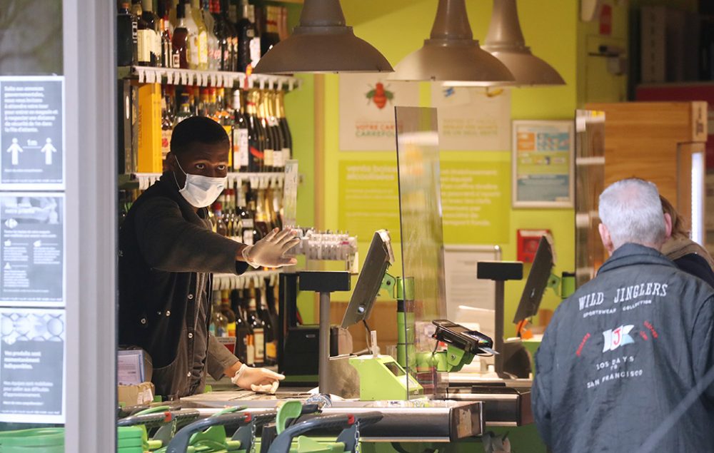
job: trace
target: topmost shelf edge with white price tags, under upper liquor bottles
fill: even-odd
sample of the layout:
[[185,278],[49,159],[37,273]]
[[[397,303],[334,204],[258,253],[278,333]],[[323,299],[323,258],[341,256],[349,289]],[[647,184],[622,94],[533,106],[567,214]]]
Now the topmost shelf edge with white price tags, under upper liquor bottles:
[[168,83],[169,85],[218,86],[250,89],[279,89],[293,91],[300,88],[302,81],[291,76],[270,74],[246,74],[243,72],[196,71],[193,69],[154,68],[132,66],[120,68],[119,76],[139,78],[139,83]]

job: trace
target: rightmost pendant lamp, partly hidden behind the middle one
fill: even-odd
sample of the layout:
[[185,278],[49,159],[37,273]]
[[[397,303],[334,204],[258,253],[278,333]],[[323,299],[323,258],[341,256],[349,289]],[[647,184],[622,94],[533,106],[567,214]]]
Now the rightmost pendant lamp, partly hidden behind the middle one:
[[531,54],[518,22],[516,0],[493,0],[493,14],[483,49],[511,70],[517,85],[564,85],[553,66]]

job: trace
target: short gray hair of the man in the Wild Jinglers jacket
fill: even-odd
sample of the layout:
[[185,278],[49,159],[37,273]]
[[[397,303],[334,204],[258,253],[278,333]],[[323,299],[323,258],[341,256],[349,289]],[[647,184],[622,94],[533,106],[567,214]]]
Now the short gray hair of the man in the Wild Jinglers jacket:
[[625,243],[659,246],[665,241],[660,194],[649,181],[630,178],[610,184],[600,194],[598,212],[615,249]]

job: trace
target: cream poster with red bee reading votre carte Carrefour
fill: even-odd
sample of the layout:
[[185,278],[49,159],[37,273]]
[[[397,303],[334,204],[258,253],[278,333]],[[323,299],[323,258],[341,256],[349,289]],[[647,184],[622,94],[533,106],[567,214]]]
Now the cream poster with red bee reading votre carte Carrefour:
[[341,151],[394,151],[394,107],[418,106],[417,82],[388,74],[340,74]]

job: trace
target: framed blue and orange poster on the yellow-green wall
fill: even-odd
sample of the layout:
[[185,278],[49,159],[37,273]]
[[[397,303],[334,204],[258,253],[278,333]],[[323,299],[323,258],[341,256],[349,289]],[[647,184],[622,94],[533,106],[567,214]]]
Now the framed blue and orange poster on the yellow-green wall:
[[513,121],[513,207],[572,208],[573,121]]

